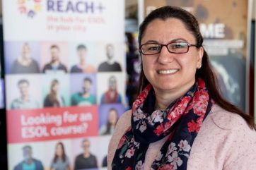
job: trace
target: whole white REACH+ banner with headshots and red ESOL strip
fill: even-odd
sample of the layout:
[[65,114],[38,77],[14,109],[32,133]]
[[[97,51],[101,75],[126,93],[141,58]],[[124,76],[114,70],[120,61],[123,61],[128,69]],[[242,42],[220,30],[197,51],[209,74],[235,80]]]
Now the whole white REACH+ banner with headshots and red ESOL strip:
[[3,7],[8,169],[107,169],[127,110],[124,1]]

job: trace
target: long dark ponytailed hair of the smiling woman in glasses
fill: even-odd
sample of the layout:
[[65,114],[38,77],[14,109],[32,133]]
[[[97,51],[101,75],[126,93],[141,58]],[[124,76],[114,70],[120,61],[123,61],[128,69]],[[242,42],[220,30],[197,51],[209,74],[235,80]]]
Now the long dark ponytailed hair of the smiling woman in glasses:
[[[202,47],[202,44],[204,42],[204,38],[202,37],[202,34],[199,30],[199,24],[197,22],[197,19],[194,18],[194,16],[185,11],[182,8],[173,7],[173,6],[163,6],[161,8],[157,8],[156,10],[149,13],[148,16],[146,16],[145,20],[141,23],[139,27],[139,47],[141,46],[141,39],[144,36],[144,32],[153,20],[155,19],[161,19],[161,20],[167,20],[168,18],[176,18],[185,25],[185,28],[192,33],[196,40],[197,48]],[[141,62],[141,68],[142,62]],[[213,68],[211,68],[211,65],[209,63],[209,56],[204,50],[204,55],[202,57],[202,67],[200,69],[197,69],[196,72],[196,78],[202,78],[206,84],[207,89],[209,90],[209,95],[212,99],[214,99],[214,102],[216,104],[219,104],[219,106],[226,111],[230,111],[234,114],[238,114],[245,119],[245,121],[248,123],[250,128],[254,128],[256,130],[255,123],[252,119],[252,116],[245,114],[243,111],[238,109],[238,107],[235,107],[235,105],[228,102],[226,99],[224,99],[219,90],[219,85],[216,80],[216,75],[214,74]],[[149,80],[146,79],[146,76],[144,75],[143,69],[141,69],[140,77],[139,77],[139,92],[146,87],[146,85],[149,84]]]

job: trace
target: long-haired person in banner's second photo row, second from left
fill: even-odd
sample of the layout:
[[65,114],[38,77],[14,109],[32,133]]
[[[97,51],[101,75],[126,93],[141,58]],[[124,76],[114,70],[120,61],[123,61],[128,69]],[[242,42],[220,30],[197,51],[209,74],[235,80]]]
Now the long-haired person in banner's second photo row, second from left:
[[64,107],[64,98],[59,94],[59,80],[52,80],[50,93],[45,97],[44,107]]

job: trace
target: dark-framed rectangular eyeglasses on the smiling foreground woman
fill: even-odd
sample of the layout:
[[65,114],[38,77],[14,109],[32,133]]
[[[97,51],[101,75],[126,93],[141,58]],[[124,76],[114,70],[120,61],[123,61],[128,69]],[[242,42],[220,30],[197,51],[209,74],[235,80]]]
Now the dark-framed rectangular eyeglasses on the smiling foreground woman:
[[189,51],[190,47],[197,47],[195,44],[190,44],[188,42],[170,42],[168,44],[157,44],[157,43],[146,43],[142,44],[140,49],[141,54],[153,55],[159,54],[162,47],[165,46],[170,53],[183,54]]

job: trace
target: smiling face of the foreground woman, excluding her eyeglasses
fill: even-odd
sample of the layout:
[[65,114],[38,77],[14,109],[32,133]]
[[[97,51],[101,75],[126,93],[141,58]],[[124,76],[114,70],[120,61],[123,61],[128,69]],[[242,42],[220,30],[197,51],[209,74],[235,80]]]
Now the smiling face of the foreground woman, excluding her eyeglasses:
[[[196,44],[196,40],[185,25],[178,19],[156,19],[147,26],[141,44],[157,42],[188,42]],[[142,55],[143,70],[155,91],[180,92],[189,89],[195,80],[197,67],[201,66],[203,49],[190,47],[185,54],[173,54],[166,47],[159,54]]]

